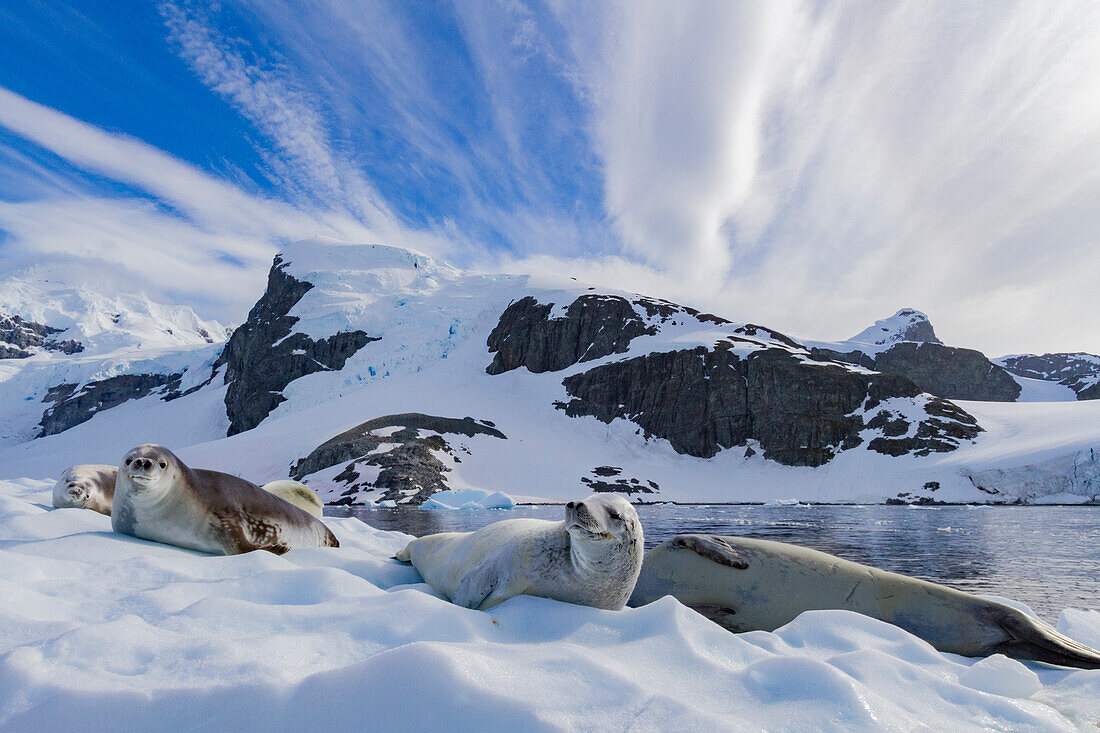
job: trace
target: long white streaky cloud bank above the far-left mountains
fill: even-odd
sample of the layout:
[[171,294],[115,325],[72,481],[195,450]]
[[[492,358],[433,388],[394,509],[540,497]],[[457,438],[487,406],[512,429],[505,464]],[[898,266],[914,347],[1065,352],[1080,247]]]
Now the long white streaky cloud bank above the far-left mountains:
[[8,169],[32,172],[37,183],[34,198],[0,200],[0,231],[7,234],[3,266],[9,272],[68,259],[85,263],[89,278],[108,291],[144,291],[230,322],[243,318],[262,293],[267,267],[283,242],[323,234],[396,242],[433,253],[448,250],[447,240],[410,231],[392,219],[367,227],[348,212],[304,211],[250,195],[146,143],[3,88],[0,127],[85,172],[139,192],[116,198],[89,194],[26,154],[7,150]]

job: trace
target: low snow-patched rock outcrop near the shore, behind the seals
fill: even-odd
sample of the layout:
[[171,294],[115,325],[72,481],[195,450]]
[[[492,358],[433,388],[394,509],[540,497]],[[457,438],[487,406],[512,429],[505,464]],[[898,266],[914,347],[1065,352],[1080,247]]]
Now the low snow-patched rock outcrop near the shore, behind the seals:
[[[388,435],[375,435],[384,428],[399,428]],[[422,435],[427,433],[428,435]],[[366,493],[382,490],[372,499],[402,504],[421,504],[432,494],[446,491],[446,473],[450,471],[435,455],[443,452],[457,462],[461,458],[443,437],[487,435],[505,439],[505,435],[487,420],[472,417],[453,418],[405,413],[376,417],[318,446],[306,458],[295,463],[290,475],[297,480],[333,466],[348,462],[336,475],[346,490],[334,504],[353,504]],[[377,451],[380,448],[383,450]],[[468,450],[459,446],[459,450]],[[370,475],[376,478],[373,480]]]

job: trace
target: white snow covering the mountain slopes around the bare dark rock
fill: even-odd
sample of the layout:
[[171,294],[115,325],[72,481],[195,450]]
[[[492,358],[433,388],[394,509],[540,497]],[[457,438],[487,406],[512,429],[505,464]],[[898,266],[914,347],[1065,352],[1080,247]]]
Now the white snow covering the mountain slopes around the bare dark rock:
[[[9,379],[0,382],[2,417],[9,425],[19,423],[23,433],[6,425],[0,478],[45,478],[72,463],[114,463],[134,445],[153,441],[168,446],[193,466],[264,483],[286,478],[290,467],[318,445],[364,420],[424,413],[490,420],[506,436],[454,440],[454,456],[440,459],[451,469],[447,479],[455,490],[568,501],[591,492],[585,480],[595,478],[597,468],[615,467],[627,483],[650,485],[651,481],[659,486],[654,493],[635,495],[647,501],[881,502],[901,495],[1030,502],[1057,494],[1078,502],[1100,496],[1100,483],[1092,478],[1094,449],[1100,448],[1100,401],[963,403],[986,431],[972,445],[923,458],[894,458],[857,448],[842,451],[825,466],[804,468],[781,466],[744,447],[722,450],[708,459],[694,458],[675,452],[667,440],[646,439],[626,419],[604,424],[594,417],[569,417],[553,405],[568,400],[562,380],[571,374],[650,352],[712,346],[740,328],[738,324],[673,315],[660,322],[656,333],[635,338],[626,353],[554,372],[532,374],[517,369],[491,375],[485,372],[492,360],[486,339],[509,303],[532,295],[539,303],[553,303],[553,313],[563,313],[581,295],[616,292],[573,280],[463,272],[427,255],[382,245],[310,240],[288,247],[282,256],[290,275],[314,284],[290,311],[299,319],[296,331],[324,338],[339,330],[362,329],[381,340],[360,349],[339,371],[319,371],[290,382],[283,391],[286,402],[258,427],[231,438],[224,437],[226,386],[220,374],[178,400],[164,402],[156,395],[133,400],[64,433],[34,440],[26,439],[26,429],[33,427],[31,418],[41,415],[42,394],[32,389],[36,382],[30,378]],[[650,324],[660,318],[638,306],[636,310]],[[891,332],[913,326],[920,316],[915,313],[895,316],[910,314]],[[741,337],[749,338],[744,332]],[[762,330],[752,338],[759,347],[743,340],[738,349],[771,343]],[[125,359],[88,358],[87,363],[76,354],[50,364],[57,371],[52,379],[81,374],[88,379],[113,369],[185,369],[184,389],[210,376],[218,348],[139,349]],[[905,413],[912,404],[895,407]],[[332,480],[339,470],[334,467],[308,480],[331,501],[341,488]],[[1021,483],[997,473],[1002,470],[1028,478]],[[996,494],[991,489],[1004,491]]]

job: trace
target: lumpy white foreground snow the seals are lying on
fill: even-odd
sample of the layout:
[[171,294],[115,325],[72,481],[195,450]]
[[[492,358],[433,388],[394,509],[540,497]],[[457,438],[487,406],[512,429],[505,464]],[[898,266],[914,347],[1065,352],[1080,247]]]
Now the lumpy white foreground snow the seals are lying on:
[[[0,729],[1094,730],[1100,671],[968,659],[848,612],[734,635],[666,598],[435,597],[408,537],[205,556],[0,481]],[[1100,613],[1063,633],[1100,643]]]

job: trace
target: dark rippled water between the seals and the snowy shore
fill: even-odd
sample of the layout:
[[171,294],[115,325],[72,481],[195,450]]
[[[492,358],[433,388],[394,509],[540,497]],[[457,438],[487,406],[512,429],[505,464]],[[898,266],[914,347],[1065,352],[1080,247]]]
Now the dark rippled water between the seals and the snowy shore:
[[[328,507],[410,535],[468,532],[505,518],[562,518],[561,506],[424,512]],[[972,593],[1028,604],[1047,621],[1100,610],[1098,506],[639,506],[646,546],[685,532],[795,543]]]

